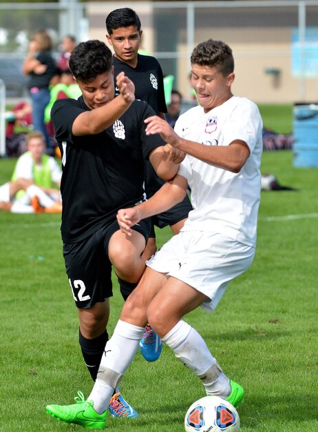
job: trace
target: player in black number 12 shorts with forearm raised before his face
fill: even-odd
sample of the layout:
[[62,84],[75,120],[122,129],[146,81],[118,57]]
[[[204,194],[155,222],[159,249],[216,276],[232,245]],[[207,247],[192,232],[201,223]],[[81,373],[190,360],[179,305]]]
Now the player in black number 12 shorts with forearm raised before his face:
[[[134,100],[134,84],[124,72],[117,76],[114,97],[112,52],[105,43],[79,43],[70,69],[83,95],[56,101],[51,115],[63,164],[63,255],[78,308],[79,342],[95,380],[108,340],[112,265],[128,288],[135,286],[145,269],[141,255],[150,231],[148,220],[127,237],[119,230],[117,210],[142,201],[145,159],[168,180],[183,154],[159,136],[146,135],[144,120],[154,111]],[[138,416],[119,391],[109,410],[114,416]]]

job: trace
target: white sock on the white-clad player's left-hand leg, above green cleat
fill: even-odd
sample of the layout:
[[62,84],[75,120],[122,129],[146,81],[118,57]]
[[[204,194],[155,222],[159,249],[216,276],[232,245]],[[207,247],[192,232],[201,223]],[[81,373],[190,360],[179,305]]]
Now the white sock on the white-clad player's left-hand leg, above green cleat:
[[114,334],[105,346],[92,392],[87,397],[87,400],[93,401],[97,413],[103,413],[108,408],[109,400],[116,387],[116,385],[112,386],[114,382],[107,371],[111,371],[113,376],[124,375],[138,351],[144,330],[144,327],[118,321]]

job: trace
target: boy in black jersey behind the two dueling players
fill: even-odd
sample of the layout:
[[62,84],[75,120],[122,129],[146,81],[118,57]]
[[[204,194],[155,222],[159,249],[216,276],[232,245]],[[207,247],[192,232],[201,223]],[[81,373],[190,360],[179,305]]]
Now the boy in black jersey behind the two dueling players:
[[[114,48],[114,77],[120,71],[124,71],[125,75],[135,84],[136,98],[147,101],[156,114],[165,119],[167,106],[160,64],[155,57],[138,54],[142,35],[138,15],[131,8],[113,10],[106,18],[106,28],[108,32],[106,35],[107,41]],[[118,92],[117,88],[116,92]],[[164,181],[156,175],[151,164],[146,161],[145,191],[147,198],[156,193],[162,184],[164,184]],[[151,221],[158,228],[170,225],[173,234],[178,234],[190,210],[192,210],[192,206],[189,197],[185,197],[180,204],[165,213],[152,217]],[[154,226],[152,226],[143,257],[148,259],[155,252],[156,234]],[[161,348],[160,338],[148,324],[145,335],[140,341],[140,352],[146,360],[151,362],[158,359]]]

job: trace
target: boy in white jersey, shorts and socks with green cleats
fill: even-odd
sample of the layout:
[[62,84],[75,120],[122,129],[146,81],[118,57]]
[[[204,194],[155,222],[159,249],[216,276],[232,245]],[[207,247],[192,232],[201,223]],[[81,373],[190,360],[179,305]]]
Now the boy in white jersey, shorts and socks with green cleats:
[[159,133],[187,156],[176,177],[147,202],[118,211],[120,229],[131,235],[131,226],[140,219],[180,202],[188,184],[193,210],[180,234],[147,261],[106,344],[87,400],[47,406],[50,415],[88,426],[88,420],[77,418],[83,411],[91,427],[104,427],[109,399],[138,350],[147,322],[198,375],[207,395],[234,406],[242,402],[242,387],[226,377],[199,333],[182,320],[198,306],[213,311],[229,282],[246,271],[255,255],[262,119],[253,102],[233,96],[233,70],[229,46],[212,39],[200,43],[191,55],[191,84],[200,106],[181,115],[174,131],[159,117],[146,120],[148,135]]

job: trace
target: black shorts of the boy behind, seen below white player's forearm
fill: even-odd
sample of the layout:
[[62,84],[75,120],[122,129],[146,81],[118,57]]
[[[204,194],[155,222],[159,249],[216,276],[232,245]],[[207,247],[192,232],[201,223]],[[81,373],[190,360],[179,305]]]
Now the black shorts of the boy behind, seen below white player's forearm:
[[187,219],[189,211],[193,210],[188,195],[184,197],[182,202],[176,204],[169,210],[151,217],[151,231],[149,237],[156,237],[154,225],[158,228],[165,228],[168,225],[174,225],[182,219]]

